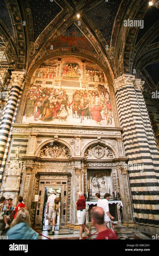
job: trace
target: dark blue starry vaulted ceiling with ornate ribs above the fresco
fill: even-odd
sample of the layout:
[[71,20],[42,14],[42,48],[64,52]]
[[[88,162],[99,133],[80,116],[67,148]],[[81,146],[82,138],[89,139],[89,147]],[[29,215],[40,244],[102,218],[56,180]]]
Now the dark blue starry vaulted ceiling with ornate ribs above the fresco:
[[[3,1],[7,6],[10,29],[7,31],[3,23],[2,26],[5,37],[11,37],[12,47],[14,45],[16,70],[30,72],[41,58],[49,58],[51,54],[87,52],[109,70],[113,80],[122,73],[134,74],[134,69],[137,69],[136,77],[139,77],[144,65],[158,60],[158,22],[155,15],[159,9],[150,7],[148,0]],[[77,13],[81,15],[79,20]],[[144,20],[149,24],[149,31],[124,27],[127,19]],[[68,45],[62,45],[68,34],[74,39],[72,45],[71,40]],[[80,40],[79,45],[75,44],[76,36]]]

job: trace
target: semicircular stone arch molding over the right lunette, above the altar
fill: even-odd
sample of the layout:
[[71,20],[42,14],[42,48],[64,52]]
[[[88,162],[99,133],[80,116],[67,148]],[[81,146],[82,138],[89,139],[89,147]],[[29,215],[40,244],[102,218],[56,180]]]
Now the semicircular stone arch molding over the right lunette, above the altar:
[[88,147],[96,146],[96,145],[107,147],[113,153],[113,155],[114,155],[113,158],[118,158],[118,153],[117,153],[116,149],[109,142],[105,142],[103,140],[101,140],[100,142],[98,142],[97,140],[92,140],[92,141],[88,142],[82,150],[81,157],[84,157],[84,154]]

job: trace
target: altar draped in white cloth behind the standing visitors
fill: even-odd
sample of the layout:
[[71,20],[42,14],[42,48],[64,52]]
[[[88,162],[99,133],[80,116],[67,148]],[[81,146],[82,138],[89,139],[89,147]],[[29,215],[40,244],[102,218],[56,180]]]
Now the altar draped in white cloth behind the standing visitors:
[[[97,206],[97,200],[86,201],[86,223],[91,222],[90,212],[94,206]],[[114,217],[113,222],[121,222],[122,220],[122,201],[109,200],[109,212]]]

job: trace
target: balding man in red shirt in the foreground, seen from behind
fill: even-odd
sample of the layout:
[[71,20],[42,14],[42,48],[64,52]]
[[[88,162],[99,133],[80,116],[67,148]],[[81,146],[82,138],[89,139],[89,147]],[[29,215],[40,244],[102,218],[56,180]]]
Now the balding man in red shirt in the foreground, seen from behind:
[[98,231],[98,235],[95,239],[118,239],[117,235],[104,226],[104,211],[102,207],[93,207],[91,210],[92,224]]

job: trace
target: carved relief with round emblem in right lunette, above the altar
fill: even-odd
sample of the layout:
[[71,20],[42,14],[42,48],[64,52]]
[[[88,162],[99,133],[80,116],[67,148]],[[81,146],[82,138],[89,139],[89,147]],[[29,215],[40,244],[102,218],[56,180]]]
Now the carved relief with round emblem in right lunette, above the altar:
[[87,159],[112,159],[113,154],[107,147],[97,145],[93,148],[89,147],[84,153],[84,157]]

